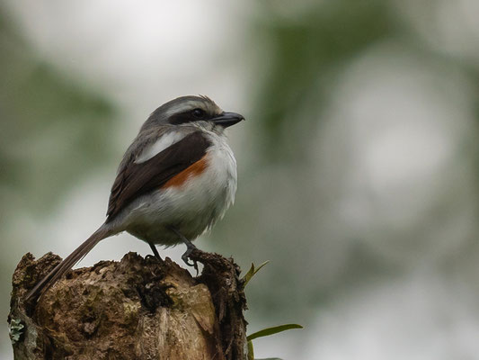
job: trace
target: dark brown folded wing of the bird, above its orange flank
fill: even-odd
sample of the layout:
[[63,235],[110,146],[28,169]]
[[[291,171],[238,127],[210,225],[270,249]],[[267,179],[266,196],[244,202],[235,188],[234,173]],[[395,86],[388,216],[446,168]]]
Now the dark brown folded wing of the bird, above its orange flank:
[[196,131],[143,163],[136,164],[130,156],[111,187],[106,222],[113,220],[138,196],[159,189],[174,175],[199,161],[210,145],[209,140]]

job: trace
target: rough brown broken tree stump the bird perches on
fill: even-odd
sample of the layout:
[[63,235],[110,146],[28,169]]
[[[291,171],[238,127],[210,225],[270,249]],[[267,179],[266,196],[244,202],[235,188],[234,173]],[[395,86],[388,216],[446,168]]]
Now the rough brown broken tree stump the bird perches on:
[[200,250],[199,277],[166,258],[129,253],[73,270],[39,302],[26,293],[60,261],[29,253],[13,274],[8,317],[15,359],[246,359],[239,267]]

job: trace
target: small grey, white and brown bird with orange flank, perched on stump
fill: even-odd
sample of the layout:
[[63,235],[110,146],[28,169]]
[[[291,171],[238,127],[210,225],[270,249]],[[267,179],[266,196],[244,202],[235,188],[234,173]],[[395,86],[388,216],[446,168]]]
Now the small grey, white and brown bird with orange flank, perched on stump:
[[[189,266],[192,241],[221,219],[235,201],[236,160],[225,129],[243,121],[224,112],[204,95],[187,95],[164,103],[141,126],[111,186],[106,220],[25,300],[39,300],[58,279],[102,239],[127,231],[145,241],[159,260],[156,245],[186,245]],[[198,269],[197,269],[198,270]]]

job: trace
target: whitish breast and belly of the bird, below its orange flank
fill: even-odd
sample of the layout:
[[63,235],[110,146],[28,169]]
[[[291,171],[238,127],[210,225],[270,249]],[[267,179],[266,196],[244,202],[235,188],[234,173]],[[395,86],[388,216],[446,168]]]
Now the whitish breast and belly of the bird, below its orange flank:
[[214,225],[235,200],[236,163],[226,143],[209,148],[206,160],[200,175],[132,203],[124,229],[148,243],[172,246],[182,242],[172,227],[194,240]]

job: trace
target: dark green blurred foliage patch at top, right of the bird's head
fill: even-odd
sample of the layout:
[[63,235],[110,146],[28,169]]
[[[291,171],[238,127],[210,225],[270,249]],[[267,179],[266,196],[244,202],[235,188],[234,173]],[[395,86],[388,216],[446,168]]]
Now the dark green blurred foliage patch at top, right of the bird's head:
[[318,2],[291,18],[279,12],[283,6],[294,11],[292,4],[263,2],[253,28],[255,40],[268,44],[252,98],[268,161],[298,160],[308,147],[291,144],[291,131],[316,126],[317,117],[297,119],[325,103],[334,76],[351,58],[400,32],[384,0]]

